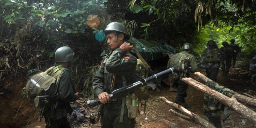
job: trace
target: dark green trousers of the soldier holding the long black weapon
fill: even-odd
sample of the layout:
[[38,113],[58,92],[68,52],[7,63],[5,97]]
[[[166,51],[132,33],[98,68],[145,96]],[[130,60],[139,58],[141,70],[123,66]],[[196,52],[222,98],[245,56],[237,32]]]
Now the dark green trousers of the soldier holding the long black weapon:
[[135,120],[128,117],[128,109],[124,105],[123,123],[120,123],[122,104],[111,101],[103,106],[101,128],[134,128]]

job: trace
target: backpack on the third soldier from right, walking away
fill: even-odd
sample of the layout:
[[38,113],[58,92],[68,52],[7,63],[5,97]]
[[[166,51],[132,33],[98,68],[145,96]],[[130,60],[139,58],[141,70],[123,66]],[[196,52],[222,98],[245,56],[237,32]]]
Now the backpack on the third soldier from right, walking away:
[[202,62],[220,62],[217,48],[206,48],[201,56]]

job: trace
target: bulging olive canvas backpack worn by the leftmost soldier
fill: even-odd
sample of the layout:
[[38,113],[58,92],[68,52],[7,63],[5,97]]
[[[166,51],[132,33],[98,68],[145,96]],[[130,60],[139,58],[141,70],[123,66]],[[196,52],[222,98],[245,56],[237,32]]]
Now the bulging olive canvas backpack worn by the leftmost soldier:
[[[60,75],[63,70],[65,70],[63,66],[59,65],[56,67],[51,67],[46,71],[42,72],[40,70],[30,70],[30,73],[27,74],[28,81],[26,86],[22,89],[22,95],[27,97],[27,99],[32,103],[35,108],[43,108],[45,102],[35,103],[38,100],[35,100],[37,96],[53,96],[56,95],[58,90],[58,83],[60,79]],[[51,74],[54,76],[51,76]]]

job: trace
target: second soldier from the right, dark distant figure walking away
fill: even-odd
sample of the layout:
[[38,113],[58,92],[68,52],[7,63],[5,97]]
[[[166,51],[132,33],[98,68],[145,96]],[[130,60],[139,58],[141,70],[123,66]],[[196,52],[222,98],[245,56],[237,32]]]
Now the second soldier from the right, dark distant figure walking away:
[[234,55],[234,49],[226,41],[222,42],[222,45],[223,45],[223,47],[221,47],[221,50],[227,56],[226,63],[224,63],[222,70],[223,70],[224,75],[227,76],[228,72],[229,72],[229,68],[231,67],[231,61],[232,61],[232,57]]

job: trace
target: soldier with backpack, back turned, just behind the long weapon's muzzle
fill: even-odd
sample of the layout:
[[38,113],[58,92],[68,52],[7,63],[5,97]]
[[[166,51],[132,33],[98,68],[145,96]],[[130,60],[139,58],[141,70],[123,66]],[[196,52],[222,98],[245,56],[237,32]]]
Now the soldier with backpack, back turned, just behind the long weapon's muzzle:
[[[189,71],[194,73],[197,68],[195,56],[191,55],[192,45],[185,43],[180,53],[171,55],[168,68],[174,67],[175,75],[172,75],[172,83],[176,86],[177,93],[174,103],[186,106],[187,84],[181,81],[184,77],[190,77]],[[189,70],[189,71],[188,71]]]

